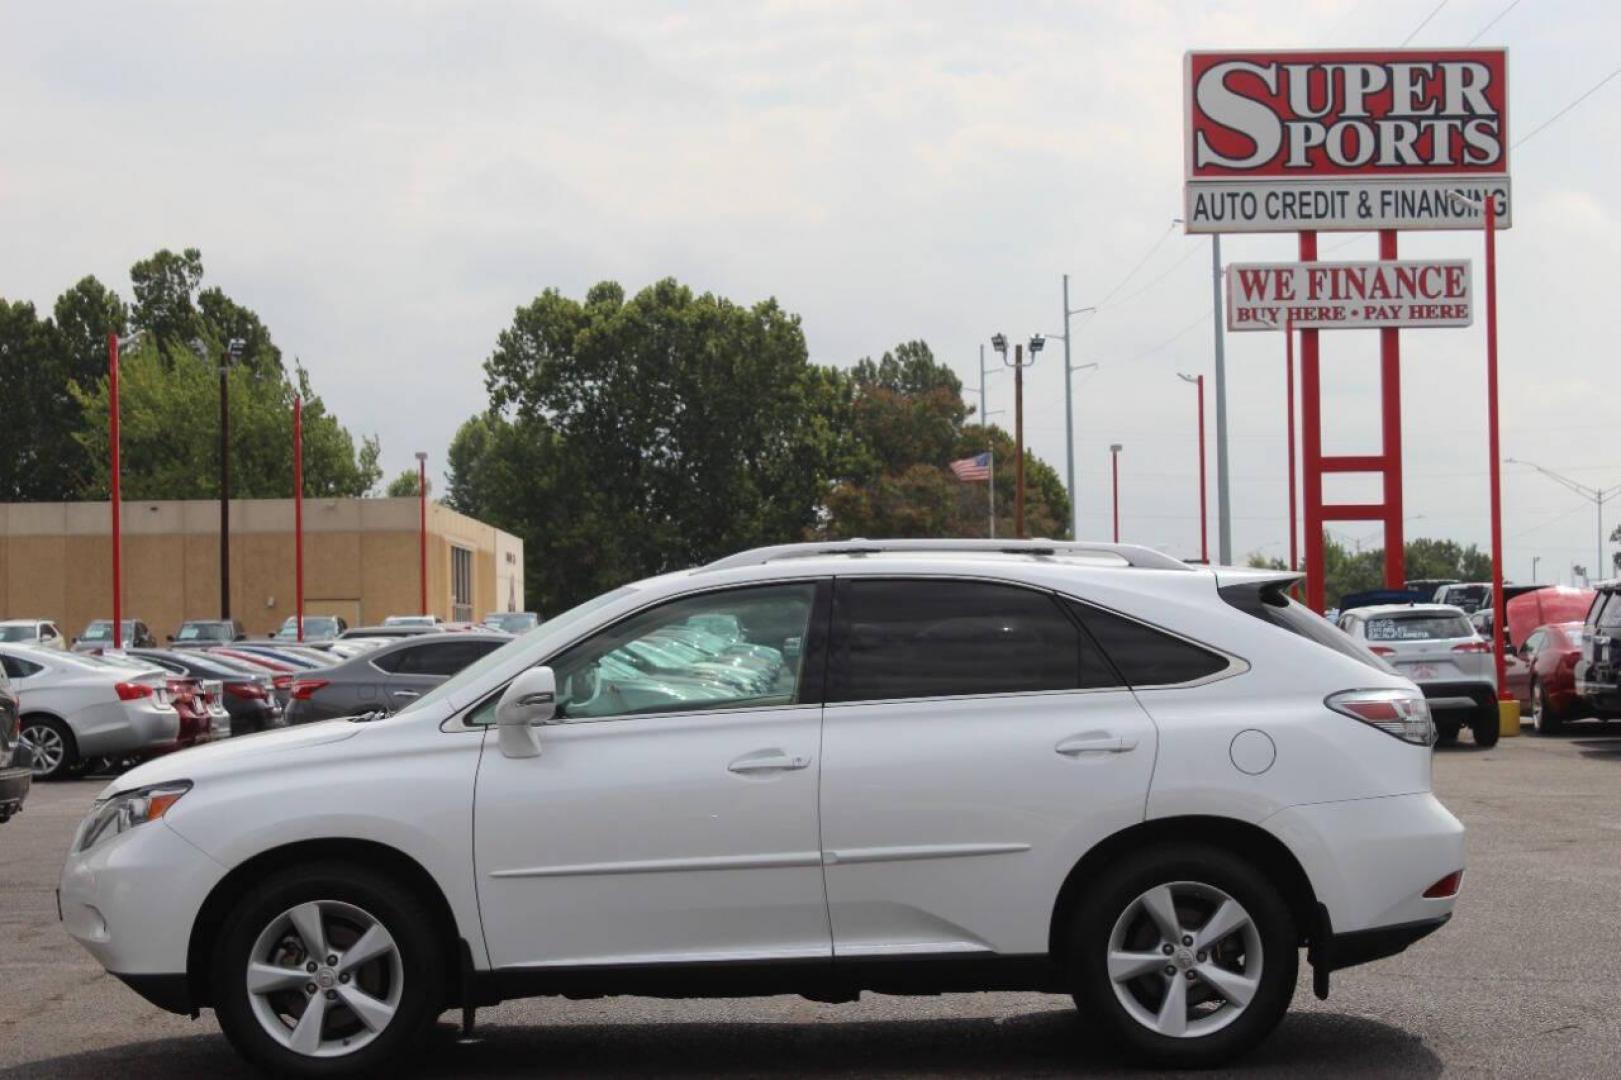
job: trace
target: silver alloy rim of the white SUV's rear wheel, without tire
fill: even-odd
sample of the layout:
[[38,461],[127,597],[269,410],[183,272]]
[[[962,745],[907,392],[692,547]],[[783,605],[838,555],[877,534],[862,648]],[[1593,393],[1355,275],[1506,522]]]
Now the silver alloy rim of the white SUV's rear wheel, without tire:
[[1198,1038],[1243,1015],[1261,986],[1261,934],[1227,892],[1204,882],[1154,885],[1109,934],[1115,999],[1167,1038]]

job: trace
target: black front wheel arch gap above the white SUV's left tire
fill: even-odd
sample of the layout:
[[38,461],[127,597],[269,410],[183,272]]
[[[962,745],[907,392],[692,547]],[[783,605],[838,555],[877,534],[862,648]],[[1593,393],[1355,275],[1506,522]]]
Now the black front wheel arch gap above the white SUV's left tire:
[[467,968],[467,947],[462,944],[462,932],[456,924],[451,903],[446,900],[444,890],[433,879],[433,874],[412,856],[386,843],[326,838],[300,840],[261,851],[233,868],[214,885],[203,906],[198,908],[198,916],[191,923],[191,939],[186,945],[186,988],[193,1010],[214,1004],[214,992],[209,984],[214,944],[225,926],[225,919],[237,903],[242,902],[242,897],[271,874],[323,859],[342,859],[347,864],[363,866],[384,874],[413,892],[428,906],[433,913],[433,934],[443,944],[444,950],[443,962],[447,976],[446,1004],[459,1002],[460,973]]

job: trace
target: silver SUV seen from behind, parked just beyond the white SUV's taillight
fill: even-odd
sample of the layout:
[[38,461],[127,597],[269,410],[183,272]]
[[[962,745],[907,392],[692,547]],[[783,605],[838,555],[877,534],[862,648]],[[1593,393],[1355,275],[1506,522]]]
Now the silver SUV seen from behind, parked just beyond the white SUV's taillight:
[[1339,616],[1339,628],[1418,684],[1435,712],[1441,743],[1456,741],[1467,725],[1478,746],[1496,746],[1496,658],[1491,642],[1475,632],[1462,608],[1449,603],[1355,608]]

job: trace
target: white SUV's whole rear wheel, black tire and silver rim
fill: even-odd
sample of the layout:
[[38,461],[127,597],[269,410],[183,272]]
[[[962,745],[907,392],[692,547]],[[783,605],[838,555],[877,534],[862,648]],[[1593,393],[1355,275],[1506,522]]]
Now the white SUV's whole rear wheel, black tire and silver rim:
[[1070,934],[1075,1004],[1136,1056],[1209,1067],[1289,1009],[1298,937],[1277,889],[1217,848],[1133,856],[1089,890]]

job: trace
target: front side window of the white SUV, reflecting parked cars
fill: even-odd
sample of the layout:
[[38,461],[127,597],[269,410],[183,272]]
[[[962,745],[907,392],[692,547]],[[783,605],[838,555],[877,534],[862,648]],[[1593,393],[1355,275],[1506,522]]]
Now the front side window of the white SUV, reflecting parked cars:
[[[562,718],[794,705],[804,697],[815,582],[728,589],[663,603],[551,662]],[[738,634],[702,632],[715,616]]]

